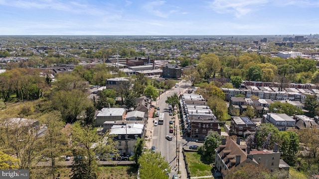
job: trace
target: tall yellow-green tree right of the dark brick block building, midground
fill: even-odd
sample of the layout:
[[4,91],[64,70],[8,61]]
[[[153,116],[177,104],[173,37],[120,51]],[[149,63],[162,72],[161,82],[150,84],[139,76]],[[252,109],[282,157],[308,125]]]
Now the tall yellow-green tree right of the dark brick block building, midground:
[[201,55],[200,61],[197,68],[204,79],[208,80],[211,75],[215,78],[216,72],[221,67],[219,58],[214,53],[208,53]]

